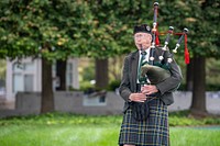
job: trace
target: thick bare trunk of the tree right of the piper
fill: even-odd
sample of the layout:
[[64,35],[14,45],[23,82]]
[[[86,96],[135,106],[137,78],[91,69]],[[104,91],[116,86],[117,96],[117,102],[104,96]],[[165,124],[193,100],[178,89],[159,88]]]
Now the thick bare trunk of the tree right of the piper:
[[194,58],[194,89],[190,111],[195,115],[204,115],[206,110],[206,58]]

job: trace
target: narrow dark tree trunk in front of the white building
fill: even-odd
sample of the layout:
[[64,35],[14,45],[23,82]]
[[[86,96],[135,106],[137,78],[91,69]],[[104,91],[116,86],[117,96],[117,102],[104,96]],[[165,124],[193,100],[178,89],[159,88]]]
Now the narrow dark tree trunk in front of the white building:
[[56,61],[56,77],[58,78],[58,87],[56,90],[65,91],[66,90],[66,60]]

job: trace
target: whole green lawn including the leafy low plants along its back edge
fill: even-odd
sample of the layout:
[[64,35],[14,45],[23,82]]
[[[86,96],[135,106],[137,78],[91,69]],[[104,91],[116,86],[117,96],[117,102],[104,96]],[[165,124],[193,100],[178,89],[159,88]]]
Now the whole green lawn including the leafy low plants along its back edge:
[[[2,119],[0,146],[117,146],[121,120],[121,115],[72,114]],[[170,121],[176,125],[170,126],[172,146],[220,146],[220,125],[202,124],[207,121],[218,123],[219,119],[189,119],[189,122],[183,116],[172,115]]]

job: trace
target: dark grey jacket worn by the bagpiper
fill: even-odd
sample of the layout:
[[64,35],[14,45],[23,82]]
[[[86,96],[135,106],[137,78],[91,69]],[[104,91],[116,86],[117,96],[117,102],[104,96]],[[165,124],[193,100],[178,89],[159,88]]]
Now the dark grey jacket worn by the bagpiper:
[[[151,49],[152,53],[153,49]],[[162,55],[161,48],[155,48],[153,52],[154,63],[160,61],[158,56]],[[169,52],[165,52],[164,60],[167,60],[166,56],[172,56]],[[166,61],[162,61],[162,64],[166,64]],[[139,50],[130,53],[124,59],[122,80],[119,88],[120,96],[124,99],[124,109],[125,112],[129,108],[129,96],[133,92],[136,92],[136,79],[138,79],[138,66],[139,66]],[[173,91],[177,89],[182,81],[182,72],[180,68],[173,59],[169,64],[170,77],[165,79],[164,81],[155,85],[158,89],[158,98],[166,105],[170,105],[174,102]]]

